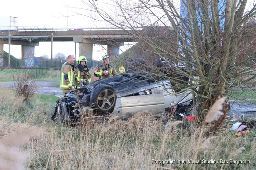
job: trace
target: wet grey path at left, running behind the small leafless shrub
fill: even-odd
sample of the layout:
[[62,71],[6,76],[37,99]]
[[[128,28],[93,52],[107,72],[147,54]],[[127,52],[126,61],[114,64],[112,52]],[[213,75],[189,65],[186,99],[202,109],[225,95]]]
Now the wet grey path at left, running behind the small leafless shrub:
[[[53,86],[53,83],[59,81],[36,81],[36,85],[38,87],[38,94],[46,94],[46,95],[55,95],[61,96],[62,92],[57,86]],[[0,87],[7,87],[7,88],[15,88],[14,82],[0,82]]]

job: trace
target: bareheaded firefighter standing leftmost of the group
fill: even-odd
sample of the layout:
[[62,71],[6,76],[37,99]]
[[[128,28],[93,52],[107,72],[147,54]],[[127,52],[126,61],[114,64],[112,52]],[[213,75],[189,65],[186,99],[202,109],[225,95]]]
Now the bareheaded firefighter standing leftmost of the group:
[[61,81],[60,90],[65,96],[72,89],[74,89],[73,77],[75,76],[72,70],[72,65],[75,62],[75,57],[73,55],[68,56],[68,60],[61,67]]

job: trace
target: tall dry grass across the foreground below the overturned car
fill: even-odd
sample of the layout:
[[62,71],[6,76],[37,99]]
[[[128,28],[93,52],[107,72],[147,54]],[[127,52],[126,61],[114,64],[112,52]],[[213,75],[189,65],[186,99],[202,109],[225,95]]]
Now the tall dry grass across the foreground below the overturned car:
[[[182,129],[181,122],[171,122],[168,131],[164,125],[145,112],[128,121],[110,118],[105,123],[94,123],[72,128],[49,121],[52,108],[45,108],[38,100],[30,107],[14,94],[0,89],[0,137],[24,132],[37,126],[46,130],[41,138],[29,140],[18,152],[28,153],[25,169],[190,169],[188,160],[198,150],[197,160],[251,160],[251,164],[197,164],[196,169],[253,169],[256,159],[255,132],[236,137],[223,129],[209,142],[203,137],[197,146],[202,128]],[[14,102],[15,101],[15,102]],[[17,107],[17,108],[16,108]],[[29,113],[29,114],[27,114]],[[48,116],[48,117],[47,117]],[[190,131],[190,133],[188,133]],[[204,142],[205,141],[205,142]],[[206,142],[207,141],[207,142]],[[204,144],[203,144],[204,143]],[[243,152],[237,151],[244,147]],[[244,149],[243,148],[243,149]],[[18,154],[17,154],[18,155]],[[175,160],[175,164],[155,164],[155,160]],[[185,164],[176,160],[186,160]],[[4,164],[2,164],[4,165]]]

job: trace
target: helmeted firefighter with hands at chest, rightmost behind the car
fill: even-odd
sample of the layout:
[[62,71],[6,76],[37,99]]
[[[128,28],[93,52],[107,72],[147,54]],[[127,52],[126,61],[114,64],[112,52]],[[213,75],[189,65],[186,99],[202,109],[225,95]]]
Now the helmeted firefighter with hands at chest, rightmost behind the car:
[[115,68],[109,64],[109,55],[102,56],[103,64],[99,65],[94,75],[99,79],[105,79],[117,75]]

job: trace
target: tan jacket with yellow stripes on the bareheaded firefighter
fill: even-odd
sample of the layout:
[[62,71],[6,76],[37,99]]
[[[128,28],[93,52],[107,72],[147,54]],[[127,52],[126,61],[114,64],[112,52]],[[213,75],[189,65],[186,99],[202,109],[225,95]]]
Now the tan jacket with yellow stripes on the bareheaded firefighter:
[[73,77],[72,65],[66,61],[61,67],[60,90],[68,90],[70,87],[74,89]]

